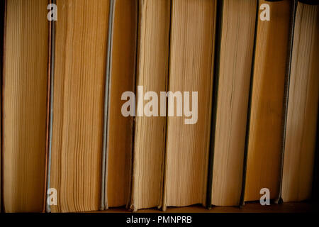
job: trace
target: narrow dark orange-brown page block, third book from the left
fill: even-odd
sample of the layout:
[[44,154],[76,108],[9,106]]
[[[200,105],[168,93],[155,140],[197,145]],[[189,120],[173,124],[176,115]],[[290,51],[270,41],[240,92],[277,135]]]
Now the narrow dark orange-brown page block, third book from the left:
[[[138,1],[114,1],[109,78],[106,208],[130,199],[133,116],[123,116],[123,92],[135,92]],[[111,9],[112,10],[112,9]]]

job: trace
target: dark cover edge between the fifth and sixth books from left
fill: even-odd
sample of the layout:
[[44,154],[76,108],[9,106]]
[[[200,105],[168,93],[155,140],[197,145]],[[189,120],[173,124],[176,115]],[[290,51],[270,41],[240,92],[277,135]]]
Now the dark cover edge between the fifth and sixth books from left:
[[211,199],[213,191],[213,164],[214,164],[214,148],[215,148],[215,132],[216,132],[216,116],[217,116],[217,101],[218,101],[218,81],[219,81],[219,68],[220,68],[220,43],[223,27],[223,0],[217,1],[217,14],[216,14],[216,40],[214,52],[214,71],[213,71],[213,102],[211,111],[211,139],[210,149],[208,155],[208,180],[207,180],[207,196],[206,206],[211,209]]

